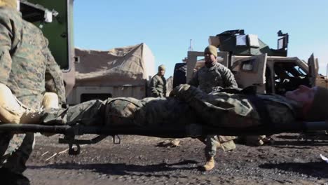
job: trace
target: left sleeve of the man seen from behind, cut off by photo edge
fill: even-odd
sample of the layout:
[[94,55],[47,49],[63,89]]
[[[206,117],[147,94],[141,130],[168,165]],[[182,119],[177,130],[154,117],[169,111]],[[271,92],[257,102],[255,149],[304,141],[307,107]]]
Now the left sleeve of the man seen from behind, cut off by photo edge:
[[11,72],[13,29],[9,19],[0,18],[0,83],[7,84]]

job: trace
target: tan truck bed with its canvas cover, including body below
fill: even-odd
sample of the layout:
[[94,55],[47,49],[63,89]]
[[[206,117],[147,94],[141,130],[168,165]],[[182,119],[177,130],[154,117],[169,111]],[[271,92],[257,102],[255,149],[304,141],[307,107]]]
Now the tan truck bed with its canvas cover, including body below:
[[154,57],[146,44],[106,51],[76,48],[75,52],[76,83],[67,104],[108,97],[146,97],[147,80],[155,74]]

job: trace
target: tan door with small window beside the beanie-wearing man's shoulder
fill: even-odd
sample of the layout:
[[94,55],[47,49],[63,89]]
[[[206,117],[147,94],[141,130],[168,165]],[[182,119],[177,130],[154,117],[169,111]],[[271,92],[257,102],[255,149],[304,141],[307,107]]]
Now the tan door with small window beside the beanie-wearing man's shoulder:
[[245,57],[233,62],[231,67],[239,88],[257,86],[258,93],[264,93],[266,83],[266,54]]

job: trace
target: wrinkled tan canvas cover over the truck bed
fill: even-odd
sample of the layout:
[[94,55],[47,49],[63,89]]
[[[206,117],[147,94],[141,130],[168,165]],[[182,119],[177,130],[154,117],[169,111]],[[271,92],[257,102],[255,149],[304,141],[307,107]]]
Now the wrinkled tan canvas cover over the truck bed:
[[76,86],[137,85],[155,74],[153,53],[145,43],[109,51],[76,48]]

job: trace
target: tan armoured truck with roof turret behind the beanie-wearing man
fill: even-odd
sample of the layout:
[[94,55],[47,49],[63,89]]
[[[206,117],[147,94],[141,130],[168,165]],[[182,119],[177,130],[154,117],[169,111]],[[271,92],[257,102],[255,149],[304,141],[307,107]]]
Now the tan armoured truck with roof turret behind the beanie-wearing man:
[[[327,87],[324,76],[317,74],[318,61],[314,55],[307,63],[299,57],[287,57],[289,35],[279,31],[278,36],[277,49],[269,48],[257,35],[245,34],[242,29],[210,36],[209,44],[219,48],[219,62],[233,71],[240,88],[256,85],[258,93],[284,95],[299,85]],[[176,64],[174,82],[188,82],[194,71],[203,67],[204,60],[198,57],[203,57],[203,52],[189,51],[186,63]]]

